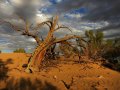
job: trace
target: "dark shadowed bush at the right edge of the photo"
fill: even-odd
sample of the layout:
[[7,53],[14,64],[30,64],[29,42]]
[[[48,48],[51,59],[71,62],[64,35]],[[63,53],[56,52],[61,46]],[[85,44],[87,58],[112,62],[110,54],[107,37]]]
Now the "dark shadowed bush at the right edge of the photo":
[[107,40],[106,46],[108,47],[103,53],[103,58],[107,63],[103,65],[120,71],[120,39]]

